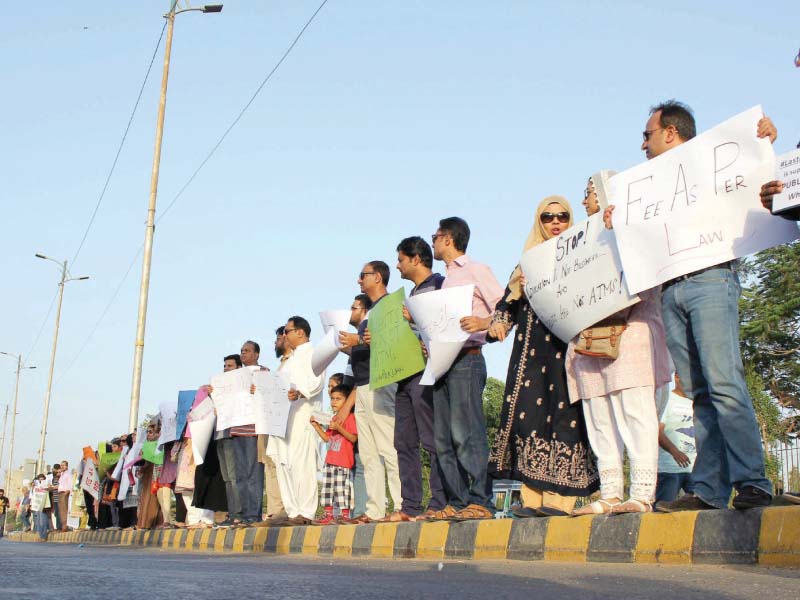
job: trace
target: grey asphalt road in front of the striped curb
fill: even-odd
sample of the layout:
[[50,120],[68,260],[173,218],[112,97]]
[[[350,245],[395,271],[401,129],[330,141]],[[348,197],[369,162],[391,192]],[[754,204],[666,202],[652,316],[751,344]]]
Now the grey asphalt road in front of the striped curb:
[[2,598],[796,600],[800,570],[323,559],[0,540]]

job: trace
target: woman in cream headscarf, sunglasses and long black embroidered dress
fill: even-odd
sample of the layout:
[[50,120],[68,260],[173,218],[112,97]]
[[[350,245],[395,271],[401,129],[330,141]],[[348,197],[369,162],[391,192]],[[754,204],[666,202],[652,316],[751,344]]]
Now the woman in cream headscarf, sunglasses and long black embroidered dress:
[[[524,250],[572,226],[565,198],[549,196],[536,211]],[[516,327],[500,430],[489,455],[489,474],[521,481],[518,517],[564,516],[598,483],[583,407],[570,404],[564,359],[567,345],[542,324],[523,291],[519,266],[495,308],[488,341],[503,341]]]

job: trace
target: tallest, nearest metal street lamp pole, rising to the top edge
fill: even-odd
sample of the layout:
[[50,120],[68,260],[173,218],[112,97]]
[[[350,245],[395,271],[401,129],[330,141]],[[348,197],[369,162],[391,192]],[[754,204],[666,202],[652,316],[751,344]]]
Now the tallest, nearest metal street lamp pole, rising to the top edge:
[[147,322],[147,295],[150,290],[150,263],[153,259],[153,236],[155,234],[156,197],[158,195],[158,171],[161,166],[161,141],[164,137],[164,113],[167,107],[167,80],[169,58],[172,52],[172,30],[175,26],[175,3],[165,15],[167,19],[167,41],[164,46],[164,74],[161,77],[161,99],[158,103],[156,122],[156,145],[153,152],[153,172],[150,176],[150,205],[147,209],[147,226],[144,235],[144,257],[142,259],[142,281],[139,286],[139,315],[136,320],[136,342],[133,355],[133,383],[131,385],[131,407],[128,415],[128,431],[136,431],[139,420],[139,397],[142,391],[142,359],[144,358],[144,332]]

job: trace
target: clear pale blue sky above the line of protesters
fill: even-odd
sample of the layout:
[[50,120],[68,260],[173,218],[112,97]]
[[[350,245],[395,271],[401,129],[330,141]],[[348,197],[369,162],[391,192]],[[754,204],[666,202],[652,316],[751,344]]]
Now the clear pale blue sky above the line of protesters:
[[[177,18],[159,215],[320,1]],[[167,6],[3,10],[0,351],[37,366],[22,374],[15,466],[38,448],[59,278],[34,254],[75,255]],[[292,314],[319,339],[317,313],[349,306],[364,262],[394,267],[398,241],[442,217],[467,219],[469,254],[505,284],[541,198],[580,212],[589,175],[644,160],[656,102],[687,102],[700,131],[762,104],[776,150],[793,148],[798,17],[795,0],[330,0],[156,229],[140,415],[206,383],[247,338],[273,365],[272,332]],[[48,463],[127,428],[141,260],[85,342],[143,241],[162,57],[71,268],[91,279],[66,287]],[[487,351],[491,376],[505,379],[510,348]],[[0,359],[2,411],[15,364]]]

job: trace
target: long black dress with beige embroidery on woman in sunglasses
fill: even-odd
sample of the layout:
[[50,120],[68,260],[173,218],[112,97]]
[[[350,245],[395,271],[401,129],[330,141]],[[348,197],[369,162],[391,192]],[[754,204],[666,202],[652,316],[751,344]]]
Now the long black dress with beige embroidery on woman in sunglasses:
[[506,289],[497,303],[494,320],[516,326],[509,332],[514,348],[489,474],[540,491],[588,496],[600,480],[582,403],[569,402],[567,345],[539,322],[524,295],[507,301],[508,294]]

